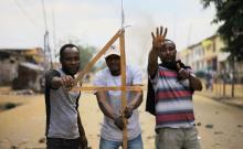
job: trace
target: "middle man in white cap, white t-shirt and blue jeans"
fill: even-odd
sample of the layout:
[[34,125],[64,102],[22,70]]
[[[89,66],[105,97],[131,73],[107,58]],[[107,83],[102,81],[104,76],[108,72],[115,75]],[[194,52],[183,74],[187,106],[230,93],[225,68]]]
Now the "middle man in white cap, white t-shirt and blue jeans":
[[[105,53],[107,67],[96,74],[95,86],[122,86],[120,81],[120,54],[112,46]],[[126,83],[128,86],[141,85],[141,72],[131,66],[126,67]],[[120,116],[120,91],[107,91],[95,93],[98,106],[104,114],[104,123],[101,130],[99,149],[118,149],[123,145],[123,118]],[[128,149],[142,149],[141,130],[138,119],[138,106],[142,102],[142,92],[128,92],[125,117],[128,119]]]

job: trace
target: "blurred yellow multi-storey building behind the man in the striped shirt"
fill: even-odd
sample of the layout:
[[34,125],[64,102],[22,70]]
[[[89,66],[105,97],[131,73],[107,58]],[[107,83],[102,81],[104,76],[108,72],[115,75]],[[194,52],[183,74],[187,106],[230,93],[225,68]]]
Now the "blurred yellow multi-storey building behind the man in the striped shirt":
[[[201,42],[190,45],[179,52],[178,56],[186,65],[192,66],[194,72],[225,75],[231,79],[232,66],[229,61],[230,53],[223,52],[224,43],[219,35],[212,35]],[[235,63],[236,82],[243,82],[243,63]]]

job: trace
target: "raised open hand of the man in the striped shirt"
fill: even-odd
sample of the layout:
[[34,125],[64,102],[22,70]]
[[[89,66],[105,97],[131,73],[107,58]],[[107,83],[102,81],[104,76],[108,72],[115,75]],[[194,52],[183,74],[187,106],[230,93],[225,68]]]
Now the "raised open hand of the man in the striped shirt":
[[156,28],[156,35],[154,32],[151,32],[152,47],[155,49],[162,47],[166,35],[167,35],[167,28],[165,28],[165,31],[162,26],[160,26],[160,29]]

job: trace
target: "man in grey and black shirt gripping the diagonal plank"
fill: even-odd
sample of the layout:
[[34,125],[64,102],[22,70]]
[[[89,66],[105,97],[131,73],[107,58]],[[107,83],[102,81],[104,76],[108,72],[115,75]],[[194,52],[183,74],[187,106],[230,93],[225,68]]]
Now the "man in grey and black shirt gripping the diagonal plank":
[[65,44],[60,50],[62,68],[45,74],[47,149],[86,149],[87,139],[78,114],[80,92],[71,92],[80,70],[80,50]]

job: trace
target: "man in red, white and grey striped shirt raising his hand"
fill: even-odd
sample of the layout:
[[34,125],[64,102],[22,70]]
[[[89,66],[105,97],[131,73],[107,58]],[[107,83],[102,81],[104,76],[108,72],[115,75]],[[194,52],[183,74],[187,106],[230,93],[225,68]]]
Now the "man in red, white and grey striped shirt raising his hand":
[[[157,28],[148,57],[146,110],[156,116],[157,149],[200,149],[192,95],[202,84],[189,66],[176,61],[176,44]],[[161,64],[158,64],[158,57]]]

